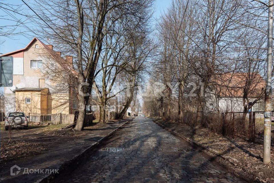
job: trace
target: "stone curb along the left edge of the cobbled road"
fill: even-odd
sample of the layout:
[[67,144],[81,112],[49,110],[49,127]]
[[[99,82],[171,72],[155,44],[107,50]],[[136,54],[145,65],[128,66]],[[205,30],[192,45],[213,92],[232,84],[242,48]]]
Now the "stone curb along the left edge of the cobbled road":
[[[88,148],[86,148],[85,150],[83,150],[82,152],[80,152],[79,154],[75,155],[74,157],[72,157],[70,160],[67,160],[66,162],[64,162],[63,164],[61,164],[58,168],[60,172],[62,172],[63,170],[65,170],[68,166],[70,166],[71,164],[74,164],[75,162],[77,162],[81,157],[83,157],[85,154],[87,154],[89,151],[91,151],[95,146],[99,145],[100,143],[102,143],[103,140],[105,140],[106,138],[110,137],[114,132],[116,132],[117,130],[119,130],[122,126],[124,126],[125,124],[127,124],[128,122],[131,122],[134,118],[129,119],[128,121],[126,121],[124,124],[118,126],[117,128],[115,128],[114,130],[112,130],[112,132],[108,133],[106,136],[100,138],[97,142],[94,142],[93,144],[91,144]],[[47,174],[45,175],[43,178],[37,180],[35,183],[46,183],[46,182],[50,182],[50,180],[54,179],[55,176],[57,174],[55,173],[51,173],[51,174]]]

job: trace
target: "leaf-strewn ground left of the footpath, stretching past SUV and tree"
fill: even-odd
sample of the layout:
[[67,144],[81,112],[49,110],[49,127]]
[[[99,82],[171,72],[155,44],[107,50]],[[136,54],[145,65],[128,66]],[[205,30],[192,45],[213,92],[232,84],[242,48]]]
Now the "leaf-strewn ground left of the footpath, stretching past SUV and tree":
[[67,126],[65,124],[56,125],[39,125],[29,124],[29,129],[12,130],[12,139],[9,141],[9,131],[5,131],[4,122],[0,122],[1,130],[1,161],[12,160],[27,156],[33,156],[47,150],[51,143],[56,142],[58,137],[67,138],[67,140],[92,133],[93,130],[108,129],[117,120],[109,121],[109,123],[93,123],[91,126],[85,127],[83,131],[60,130]]

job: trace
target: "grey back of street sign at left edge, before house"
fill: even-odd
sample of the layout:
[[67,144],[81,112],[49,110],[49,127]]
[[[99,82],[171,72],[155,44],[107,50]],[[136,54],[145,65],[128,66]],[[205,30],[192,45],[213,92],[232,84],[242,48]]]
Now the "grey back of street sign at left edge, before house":
[[0,57],[0,86],[13,85],[13,57]]

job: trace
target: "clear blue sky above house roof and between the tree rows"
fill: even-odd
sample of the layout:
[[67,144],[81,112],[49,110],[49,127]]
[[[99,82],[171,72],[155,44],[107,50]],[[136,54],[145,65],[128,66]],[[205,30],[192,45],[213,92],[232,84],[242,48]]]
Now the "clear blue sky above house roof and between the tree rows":
[[[155,0],[155,12],[154,12],[155,22],[157,21],[157,19],[160,18],[161,13],[163,13],[166,10],[166,8],[170,5],[170,3],[171,3],[171,0]],[[12,4],[22,5],[22,9],[24,9],[24,11],[29,11],[27,6],[23,5],[23,2],[21,0],[13,0]],[[0,11],[0,16],[1,15],[4,15],[5,18],[11,19],[11,16],[7,15],[7,13],[4,11]],[[12,14],[12,15],[17,19],[20,19],[21,21],[27,22],[27,19],[21,15],[16,15],[16,14]],[[1,20],[1,25],[12,25],[12,22],[8,20]],[[27,24],[27,25],[30,25],[30,24]],[[26,28],[22,26],[22,27],[18,27],[16,31],[20,32],[25,30]],[[2,36],[0,37],[0,40],[5,40],[5,43],[0,45],[0,53],[2,54],[8,53],[11,51],[24,48],[31,41],[32,38],[33,36],[25,36],[25,35],[15,35],[13,36],[12,39]]]

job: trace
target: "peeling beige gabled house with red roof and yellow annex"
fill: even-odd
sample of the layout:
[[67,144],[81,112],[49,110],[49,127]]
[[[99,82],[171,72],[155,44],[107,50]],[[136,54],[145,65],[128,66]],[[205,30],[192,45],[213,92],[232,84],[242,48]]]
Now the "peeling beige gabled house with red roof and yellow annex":
[[61,77],[62,72],[76,74],[72,56],[61,57],[53,45],[34,37],[25,48],[1,57],[13,57],[13,86],[5,87],[5,113],[74,114],[73,89]]

